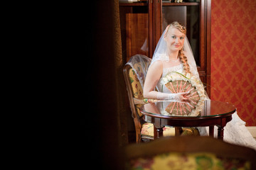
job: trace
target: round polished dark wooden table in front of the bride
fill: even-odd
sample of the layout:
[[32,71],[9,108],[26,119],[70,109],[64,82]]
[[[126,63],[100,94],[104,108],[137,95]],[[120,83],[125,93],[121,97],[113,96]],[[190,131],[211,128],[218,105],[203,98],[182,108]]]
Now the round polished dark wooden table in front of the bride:
[[174,127],[209,126],[209,135],[213,137],[214,125],[216,125],[220,140],[223,140],[225,125],[232,120],[232,114],[236,111],[233,104],[211,100],[202,101],[201,106],[191,109],[191,112],[182,106],[186,106],[186,102],[159,101],[146,103],[139,109],[144,115],[144,120],[154,124],[156,130],[154,138],[163,136],[164,125]]

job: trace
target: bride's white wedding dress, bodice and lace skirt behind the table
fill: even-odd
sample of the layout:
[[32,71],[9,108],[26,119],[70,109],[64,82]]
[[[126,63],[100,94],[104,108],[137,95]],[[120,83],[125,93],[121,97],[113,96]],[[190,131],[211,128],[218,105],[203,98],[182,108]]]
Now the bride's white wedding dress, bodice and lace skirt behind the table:
[[[183,64],[179,64],[175,67],[169,67],[169,68],[164,68],[163,69],[163,74],[162,77],[165,77],[166,74],[169,72],[183,72]],[[169,89],[166,88],[164,84],[161,84],[161,79],[159,80],[159,83],[156,85],[156,88],[158,91],[164,92],[164,93],[171,93]],[[209,135],[208,134],[208,127],[207,128],[198,128],[200,135]],[[218,128],[215,126],[214,128],[214,136],[217,137],[218,135]],[[247,130],[245,127],[245,122],[242,121],[238,113],[235,112],[232,115],[232,120],[225,125],[224,128],[224,141],[225,142],[230,142],[235,145],[242,145],[245,147],[251,147],[256,150],[256,140],[255,138],[252,137],[250,132]]]

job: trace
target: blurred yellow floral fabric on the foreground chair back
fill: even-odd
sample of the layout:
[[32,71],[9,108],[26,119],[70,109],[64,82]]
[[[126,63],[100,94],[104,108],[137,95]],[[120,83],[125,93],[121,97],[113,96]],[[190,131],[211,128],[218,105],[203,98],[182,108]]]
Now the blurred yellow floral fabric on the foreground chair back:
[[250,162],[242,159],[217,157],[210,153],[166,153],[155,157],[132,159],[129,166],[133,170],[242,170],[250,169]]

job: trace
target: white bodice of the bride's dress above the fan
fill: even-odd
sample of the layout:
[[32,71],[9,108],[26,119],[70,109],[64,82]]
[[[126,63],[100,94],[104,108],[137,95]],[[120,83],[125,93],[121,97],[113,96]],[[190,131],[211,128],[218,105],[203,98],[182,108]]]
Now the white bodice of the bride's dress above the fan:
[[163,92],[163,93],[171,93],[171,91],[169,91],[169,89],[166,88],[165,84],[162,84],[161,80],[166,76],[166,74],[168,74],[169,72],[179,72],[182,73],[183,72],[183,64],[178,64],[174,67],[168,67],[168,68],[163,68],[163,74],[161,76],[161,78],[159,79],[158,84],[156,84],[156,89],[159,92]]

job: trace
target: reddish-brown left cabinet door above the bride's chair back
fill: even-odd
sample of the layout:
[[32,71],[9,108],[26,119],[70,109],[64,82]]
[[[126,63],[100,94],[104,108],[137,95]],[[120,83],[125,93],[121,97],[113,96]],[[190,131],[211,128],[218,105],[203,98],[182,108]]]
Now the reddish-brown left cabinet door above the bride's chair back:
[[152,2],[119,2],[122,55],[128,62],[133,55],[151,57],[152,47]]

